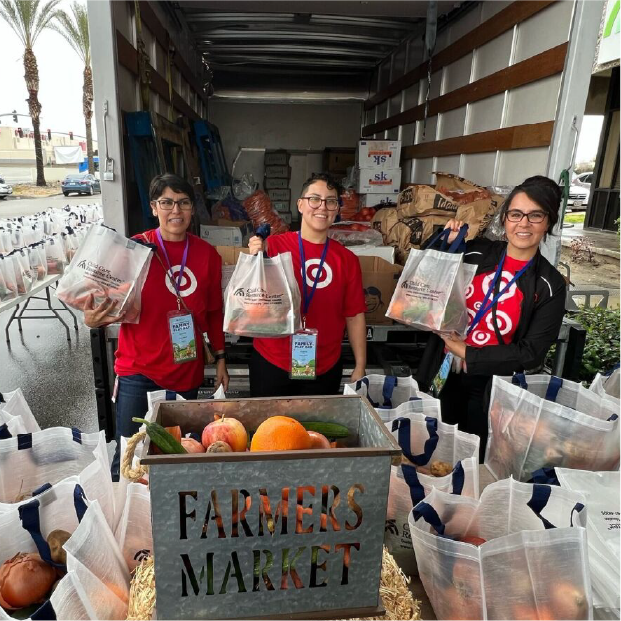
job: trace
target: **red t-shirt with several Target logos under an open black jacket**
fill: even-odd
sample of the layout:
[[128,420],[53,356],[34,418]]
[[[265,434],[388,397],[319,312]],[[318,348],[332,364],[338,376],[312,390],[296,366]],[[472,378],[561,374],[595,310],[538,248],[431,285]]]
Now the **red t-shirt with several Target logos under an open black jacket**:
[[[505,257],[505,262],[502,266],[502,275],[500,276],[500,288],[498,290],[502,291],[515,274],[527,263],[528,261],[518,261],[509,256]],[[483,298],[494,280],[497,267],[498,266],[496,266],[493,272],[477,274],[466,291],[466,305],[468,307],[468,314],[470,315],[470,322],[472,322],[476,312],[481,308]],[[492,292],[488,302],[490,302],[493,297],[494,294]],[[523,299],[524,296],[518,289],[517,282],[514,282],[509,290],[504,293],[496,303],[496,322],[505,343],[511,343],[513,340],[513,335],[520,321]],[[498,345],[491,309],[485,313],[476,328],[467,336],[466,345],[472,347]]]

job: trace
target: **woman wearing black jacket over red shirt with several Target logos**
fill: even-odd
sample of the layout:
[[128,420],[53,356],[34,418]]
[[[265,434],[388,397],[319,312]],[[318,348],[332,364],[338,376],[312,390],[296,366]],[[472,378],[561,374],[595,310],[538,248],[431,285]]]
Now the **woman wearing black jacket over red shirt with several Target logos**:
[[[536,369],[558,337],[566,284],[542,256],[539,243],[552,234],[561,202],[559,186],[543,176],[516,186],[500,211],[504,241],[474,239],[464,261],[477,266],[466,292],[470,325],[466,338],[431,335],[417,380],[430,388],[443,362],[450,372],[441,389],[442,418],[487,442],[489,386],[493,375]],[[450,220],[449,242],[462,222]]]

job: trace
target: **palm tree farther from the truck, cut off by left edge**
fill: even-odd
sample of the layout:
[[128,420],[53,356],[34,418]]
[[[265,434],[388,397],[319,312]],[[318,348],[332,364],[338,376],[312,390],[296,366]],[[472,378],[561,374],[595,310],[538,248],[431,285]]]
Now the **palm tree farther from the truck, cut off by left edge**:
[[39,103],[39,68],[32,48],[49,25],[60,0],[0,0],[0,17],[4,19],[24,46],[24,79],[28,89],[28,109],[35,135],[37,185],[45,185],[43,152],[41,150],[41,104]]

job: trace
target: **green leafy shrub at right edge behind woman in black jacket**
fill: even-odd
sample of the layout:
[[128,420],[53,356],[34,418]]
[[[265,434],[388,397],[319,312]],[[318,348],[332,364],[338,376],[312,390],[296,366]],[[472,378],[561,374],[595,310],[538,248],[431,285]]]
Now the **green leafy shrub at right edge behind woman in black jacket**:
[[591,382],[621,361],[621,309],[584,308],[572,318],[587,332],[579,380]]

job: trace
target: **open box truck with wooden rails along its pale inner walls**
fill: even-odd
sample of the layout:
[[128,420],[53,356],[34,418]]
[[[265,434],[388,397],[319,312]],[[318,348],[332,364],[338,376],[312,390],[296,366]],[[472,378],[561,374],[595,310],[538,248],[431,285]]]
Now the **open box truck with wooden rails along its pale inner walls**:
[[[260,179],[266,149],[291,152],[292,187],[326,147],[360,137],[401,140],[402,185],[431,184],[434,171],[483,186],[558,179],[573,165],[603,2],[270,0],[259,11],[251,0],[88,0],[105,222],[139,228],[137,157],[209,186],[183,145],[160,154],[197,121],[218,128],[240,174]],[[141,111],[158,134],[152,152],[128,134]],[[543,252],[556,263],[560,235]],[[369,329],[371,369],[415,366],[420,333]],[[100,404],[114,336],[93,334]],[[242,363],[247,348],[231,346]]]

